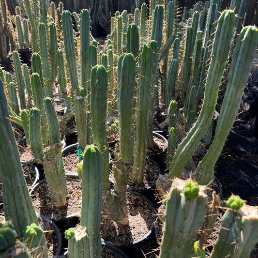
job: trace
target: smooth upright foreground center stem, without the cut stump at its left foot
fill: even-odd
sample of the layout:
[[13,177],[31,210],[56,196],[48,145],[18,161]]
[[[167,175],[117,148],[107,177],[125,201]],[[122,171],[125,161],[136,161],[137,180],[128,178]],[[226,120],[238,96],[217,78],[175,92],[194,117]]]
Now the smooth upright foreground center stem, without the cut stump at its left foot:
[[102,162],[101,153],[88,145],[83,153],[81,226],[87,227],[91,258],[101,257]]

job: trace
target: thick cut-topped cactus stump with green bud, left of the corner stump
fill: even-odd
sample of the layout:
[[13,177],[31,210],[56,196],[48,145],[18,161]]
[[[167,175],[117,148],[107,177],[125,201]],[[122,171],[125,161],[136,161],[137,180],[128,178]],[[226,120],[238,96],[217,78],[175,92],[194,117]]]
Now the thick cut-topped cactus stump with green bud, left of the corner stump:
[[164,234],[160,258],[191,258],[198,230],[202,227],[207,212],[205,187],[196,182],[176,178],[165,198]]

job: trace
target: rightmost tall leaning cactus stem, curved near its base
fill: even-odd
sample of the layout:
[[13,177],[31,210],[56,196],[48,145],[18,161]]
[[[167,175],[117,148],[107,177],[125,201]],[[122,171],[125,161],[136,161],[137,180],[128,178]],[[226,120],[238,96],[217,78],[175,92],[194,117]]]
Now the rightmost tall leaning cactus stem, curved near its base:
[[197,167],[196,180],[202,184],[207,184],[213,178],[215,163],[237,116],[257,44],[258,29],[254,26],[243,28],[233,53],[227,90],[220,109],[215,136],[210,149]]

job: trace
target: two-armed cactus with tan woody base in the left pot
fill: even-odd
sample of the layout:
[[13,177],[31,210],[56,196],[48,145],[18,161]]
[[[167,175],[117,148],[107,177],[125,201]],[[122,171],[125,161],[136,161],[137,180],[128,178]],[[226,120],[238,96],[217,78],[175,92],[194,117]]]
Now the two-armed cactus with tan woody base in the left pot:
[[35,159],[43,163],[50,195],[55,207],[66,203],[67,187],[62,163],[60,129],[57,114],[51,98],[44,99],[49,129],[49,145],[43,148],[40,127],[40,110],[30,109],[30,147]]

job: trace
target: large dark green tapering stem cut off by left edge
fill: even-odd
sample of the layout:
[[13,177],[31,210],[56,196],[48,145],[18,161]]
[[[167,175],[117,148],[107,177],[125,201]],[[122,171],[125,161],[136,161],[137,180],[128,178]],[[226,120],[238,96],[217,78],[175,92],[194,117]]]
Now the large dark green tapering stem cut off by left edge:
[[24,179],[1,80],[0,114],[0,176],[4,216],[6,221],[12,219],[17,234],[23,237],[26,226],[31,223],[38,224],[38,218]]

